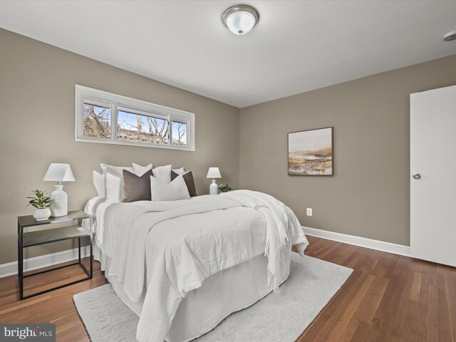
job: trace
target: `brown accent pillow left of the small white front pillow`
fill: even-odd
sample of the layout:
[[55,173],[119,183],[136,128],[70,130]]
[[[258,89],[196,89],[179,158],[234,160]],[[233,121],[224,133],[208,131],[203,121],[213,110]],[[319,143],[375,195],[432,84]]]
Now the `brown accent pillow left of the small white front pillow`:
[[122,202],[150,201],[150,176],[152,170],[145,172],[141,177],[123,170]]

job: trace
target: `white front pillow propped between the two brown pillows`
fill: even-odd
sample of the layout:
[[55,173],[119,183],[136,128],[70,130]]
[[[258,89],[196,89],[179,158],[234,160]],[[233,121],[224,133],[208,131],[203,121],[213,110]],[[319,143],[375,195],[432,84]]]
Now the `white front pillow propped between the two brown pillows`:
[[150,176],[150,193],[152,201],[175,201],[177,199],[190,199],[187,185],[184,177],[179,175],[167,184],[158,180],[154,176]]

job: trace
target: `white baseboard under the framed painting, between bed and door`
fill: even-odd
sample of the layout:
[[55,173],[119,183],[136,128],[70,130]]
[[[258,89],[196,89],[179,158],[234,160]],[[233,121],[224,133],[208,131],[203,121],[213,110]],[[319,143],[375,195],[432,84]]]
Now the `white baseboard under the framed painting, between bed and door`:
[[321,237],[322,239],[343,242],[344,244],[354,244],[359,247],[366,247],[376,249],[382,252],[404,255],[410,257],[410,247],[403,246],[402,244],[392,244],[390,242],[383,242],[379,240],[366,239],[366,237],[355,237],[353,235],[341,234],[336,232],[328,232],[327,230],[303,227],[304,233],[311,237]]

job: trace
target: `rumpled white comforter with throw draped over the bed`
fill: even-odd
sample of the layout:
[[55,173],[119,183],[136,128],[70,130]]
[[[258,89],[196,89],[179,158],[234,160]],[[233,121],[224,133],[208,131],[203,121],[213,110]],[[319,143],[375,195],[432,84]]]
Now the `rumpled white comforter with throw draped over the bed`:
[[259,254],[268,257],[269,279],[280,251],[308,242],[298,219],[269,195],[238,190],[173,202],[111,204],[101,251],[112,259],[108,276],[123,283],[130,301],[144,299],[137,338],[162,342],[180,301],[212,274]]

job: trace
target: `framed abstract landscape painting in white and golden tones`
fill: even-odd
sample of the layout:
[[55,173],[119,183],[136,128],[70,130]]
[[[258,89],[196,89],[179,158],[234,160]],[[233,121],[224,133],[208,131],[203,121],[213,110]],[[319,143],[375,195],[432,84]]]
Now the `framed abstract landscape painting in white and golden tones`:
[[288,133],[288,175],[333,176],[333,127]]

